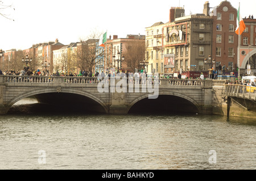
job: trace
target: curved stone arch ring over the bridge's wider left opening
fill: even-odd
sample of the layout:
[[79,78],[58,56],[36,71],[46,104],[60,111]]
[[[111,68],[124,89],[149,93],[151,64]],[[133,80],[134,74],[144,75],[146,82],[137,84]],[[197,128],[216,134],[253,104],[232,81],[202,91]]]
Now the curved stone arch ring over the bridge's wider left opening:
[[[13,99],[9,100],[9,102],[6,103],[6,106],[5,106],[6,112],[8,112],[9,109],[11,108],[11,106],[13,106],[13,104],[18,102],[19,100],[28,98],[30,96],[38,95],[38,94],[48,94],[48,93],[57,93],[56,87],[53,89],[43,89],[42,88],[40,90],[33,90],[33,91],[24,92],[23,94],[19,94],[18,96],[15,96]],[[85,96],[86,98],[92,99],[95,102],[97,102],[98,104],[100,104],[102,106],[102,108],[104,109],[105,113],[109,112],[108,106],[104,103],[104,101],[101,100],[100,98],[98,98],[98,96],[90,94],[89,92],[75,90],[75,89],[72,89],[72,90],[61,89],[60,94],[61,93],[77,94],[77,95]]]

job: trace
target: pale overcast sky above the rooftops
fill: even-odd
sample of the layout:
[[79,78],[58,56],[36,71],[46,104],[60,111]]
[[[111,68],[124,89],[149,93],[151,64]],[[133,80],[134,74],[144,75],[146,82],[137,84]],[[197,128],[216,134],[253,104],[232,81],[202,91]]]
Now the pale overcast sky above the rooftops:
[[[108,32],[107,37],[119,38],[145,35],[145,28],[156,22],[167,23],[171,7],[184,6],[185,15],[203,13],[205,0],[0,0],[13,5],[4,11],[9,20],[0,16],[0,49],[27,49],[32,44],[55,41],[69,44],[86,39],[94,31]],[[230,0],[241,6],[244,18],[255,14],[255,0]],[[209,1],[210,7],[221,1]],[[14,10],[15,9],[15,10]],[[1,11],[1,10],[0,10]],[[1,11],[2,12],[2,11]]]

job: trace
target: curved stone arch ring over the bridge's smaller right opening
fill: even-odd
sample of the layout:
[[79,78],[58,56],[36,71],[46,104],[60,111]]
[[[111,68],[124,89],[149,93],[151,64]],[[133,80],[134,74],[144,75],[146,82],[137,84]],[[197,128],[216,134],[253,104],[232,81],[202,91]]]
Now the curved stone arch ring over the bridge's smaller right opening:
[[[197,109],[198,113],[201,112],[201,109],[200,109],[200,106],[199,106],[199,103],[196,102],[195,99],[192,99],[190,98],[189,96],[187,95],[184,95],[184,94],[180,94],[180,93],[177,93],[177,92],[161,92],[159,91],[159,96],[176,96],[176,97],[179,97],[179,98],[182,98],[182,99],[185,99],[187,100],[188,102],[190,102],[191,104],[193,104],[193,106],[195,106],[195,108]],[[128,106],[128,109],[127,109],[127,112],[129,112],[131,110],[131,108],[138,102],[140,102],[141,100],[143,99],[148,99],[148,95],[147,94],[144,94],[144,95],[141,95],[141,96],[138,96],[138,98],[134,99]]]

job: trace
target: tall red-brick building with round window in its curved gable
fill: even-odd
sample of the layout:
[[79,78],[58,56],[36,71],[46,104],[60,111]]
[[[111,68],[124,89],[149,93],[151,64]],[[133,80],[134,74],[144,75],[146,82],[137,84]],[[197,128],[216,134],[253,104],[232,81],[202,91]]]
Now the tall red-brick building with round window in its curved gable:
[[[208,1],[205,7],[209,9]],[[205,12],[209,16],[209,11]],[[216,66],[225,64],[229,71],[233,71],[237,63],[237,9],[229,1],[222,1],[214,8],[212,18],[212,58],[216,60]]]

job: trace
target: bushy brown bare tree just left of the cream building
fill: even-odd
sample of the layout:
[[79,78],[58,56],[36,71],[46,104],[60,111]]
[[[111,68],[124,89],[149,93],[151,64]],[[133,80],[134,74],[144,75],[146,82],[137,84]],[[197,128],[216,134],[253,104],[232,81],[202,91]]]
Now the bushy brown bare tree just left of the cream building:
[[145,43],[144,41],[130,41],[125,44],[123,54],[125,60],[123,64],[127,65],[127,68],[131,70],[139,69],[139,62],[145,57]]

